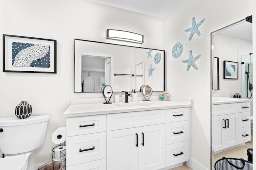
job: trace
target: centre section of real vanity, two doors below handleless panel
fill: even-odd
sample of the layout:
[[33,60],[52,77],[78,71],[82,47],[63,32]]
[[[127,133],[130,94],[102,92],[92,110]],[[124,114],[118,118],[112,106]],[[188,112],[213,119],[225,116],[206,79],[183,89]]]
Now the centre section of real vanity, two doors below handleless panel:
[[[107,170],[157,170],[166,167],[164,109],[117,113],[107,117],[107,124],[110,124]],[[125,129],[109,131],[119,128]]]

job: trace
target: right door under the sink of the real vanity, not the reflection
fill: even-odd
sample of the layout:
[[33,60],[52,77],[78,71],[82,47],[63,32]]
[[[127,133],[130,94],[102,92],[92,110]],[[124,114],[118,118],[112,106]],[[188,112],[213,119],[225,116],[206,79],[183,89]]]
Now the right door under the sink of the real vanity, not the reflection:
[[165,124],[140,127],[140,170],[157,170],[166,166],[165,132]]

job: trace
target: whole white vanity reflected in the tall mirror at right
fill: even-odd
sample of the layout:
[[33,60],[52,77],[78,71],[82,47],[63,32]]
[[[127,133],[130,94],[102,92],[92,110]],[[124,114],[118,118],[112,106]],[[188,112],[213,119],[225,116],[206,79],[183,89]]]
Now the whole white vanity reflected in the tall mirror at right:
[[248,99],[212,98],[212,148],[222,152],[251,140]]

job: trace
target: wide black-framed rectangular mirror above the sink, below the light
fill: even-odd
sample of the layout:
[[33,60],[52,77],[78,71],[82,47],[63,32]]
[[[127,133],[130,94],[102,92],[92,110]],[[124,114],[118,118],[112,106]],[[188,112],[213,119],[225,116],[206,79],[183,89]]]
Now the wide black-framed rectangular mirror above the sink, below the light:
[[75,39],[74,92],[165,90],[165,51]]

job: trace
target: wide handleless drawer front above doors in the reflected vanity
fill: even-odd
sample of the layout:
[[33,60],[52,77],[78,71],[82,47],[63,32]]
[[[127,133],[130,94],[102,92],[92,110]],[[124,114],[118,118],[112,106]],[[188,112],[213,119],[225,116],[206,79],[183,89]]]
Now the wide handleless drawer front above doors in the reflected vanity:
[[212,114],[214,116],[226,115],[238,112],[238,103],[214,104],[212,105]]

